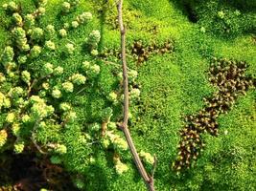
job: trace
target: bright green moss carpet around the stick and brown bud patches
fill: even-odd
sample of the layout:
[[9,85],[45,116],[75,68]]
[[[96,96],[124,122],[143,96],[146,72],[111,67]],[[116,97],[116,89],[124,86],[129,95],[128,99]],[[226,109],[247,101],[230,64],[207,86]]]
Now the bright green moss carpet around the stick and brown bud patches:
[[[23,7],[32,6],[30,1],[22,2],[26,3]],[[55,23],[58,28],[75,16],[58,17],[58,12],[55,11],[58,9],[58,2],[60,1],[49,1],[47,17],[42,19],[42,25]],[[111,11],[106,11],[104,18],[97,10],[101,7],[96,5],[96,1],[82,1],[77,13],[91,11],[95,15],[94,21],[72,32],[69,39],[80,44],[89,32],[99,29],[103,32],[102,48],[119,48],[119,32],[111,30],[109,25],[103,25],[101,22],[101,19],[110,19],[113,16],[111,14],[116,13],[116,8],[110,7]],[[140,65],[128,57],[128,67],[138,71],[138,83],[142,87],[140,101],[130,107],[133,117],[129,128],[137,149],[155,154],[158,159],[155,172],[156,190],[245,190],[246,187],[249,187],[249,190],[255,189],[255,90],[239,98],[227,115],[221,115],[220,136],[205,137],[206,148],[193,169],[177,176],[171,167],[177,154],[178,131],[182,128],[182,117],[196,114],[204,106],[203,97],[211,96],[216,91],[208,81],[207,75],[212,56],[244,60],[249,65],[247,74],[255,76],[256,48],[252,35],[244,34],[235,39],[223,39],[200,32],[200,26],[191,23],[187,16],[177,9],[175,3],[168,0],[128,0],[125,3],[124,12],[126,11],[128,13],[125,13],[125,21],[129,26],[128,46],[138,39],[145,43],[151,43],[153,40],[163,43],[171,39],[175,45],[174,53],[151,55],[148,61]],[[3,50],[9,35],[4,28],[9,21],[3,11],[0,11],[0,16],[1,21],[4,21],[0,24],[0,48]],[[59,19],[56,20],[56,17]],[[157,33],[147,30],[154,25],[157,26]],[[68,73],[72,73],[84,59],[92,58],[86,53],[81,54],[80,50],[72,59],[52,59],[49,56],[48,61],[61,65]],[[115,61],[116,58],[111,59]],[[38,64],[35,63],[35,67],[39,67],[39,63],[40,60]],[[100,63],[104,73],[99,81],[107,93],[115,81],[109,74],[111,66],[105,62]],[[85,90],[76,98],[70,97],[77,103],[82,123],[97,120],[99,110],[108,104],[105,97],[96,91]],[[224,131],[228,132],[227,135],[224,135]],[[67,135],[74,133],[72,137],[67,137],[76,138],[79,136],[76,132],[78,131],[67,130]],[[66,139],[66,142],[72,145],[75,140]],[[69,153],[67,159],[76,158],[83,152],[82,147],[76,148],[78,150]],[[125,158],[130,167],[128,173],[117,176],[110,157],[105,152],[99,152],[98,155],[104,156],[98,161],[101,165],[84,172],[87,180],[86,190],[145,190],[130,157]],[[237,157],[232,158],[232,155]],[[253,161],[254,165],[251,165]],[[77,162],[82,164],[82,158]],[[74,167],[69,166],[69,169]]]

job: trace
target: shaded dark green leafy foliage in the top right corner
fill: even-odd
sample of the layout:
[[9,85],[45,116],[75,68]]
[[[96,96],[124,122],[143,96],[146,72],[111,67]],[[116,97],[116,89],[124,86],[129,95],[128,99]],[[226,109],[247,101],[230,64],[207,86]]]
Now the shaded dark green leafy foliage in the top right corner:
[[[178,1],[189,19],[198,22],[203,32],[236,37],[255,31],[255,1]],[[243,5],[242,5],[243,4]]]

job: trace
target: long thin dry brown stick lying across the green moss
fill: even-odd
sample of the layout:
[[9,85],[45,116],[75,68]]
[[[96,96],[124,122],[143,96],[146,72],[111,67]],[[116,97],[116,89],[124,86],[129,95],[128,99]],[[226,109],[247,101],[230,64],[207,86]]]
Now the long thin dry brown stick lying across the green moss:
[[145,167],[143,166],[128,130],[128,70],[127,70],[127,60],[126,60],[126,29],[123,23],[122,8],[123,8],[123,0],[119,0],[117,5],[117,10],[118,10],[118,23],[119,23],[120,32],[121,32],[121,56],[122,56],[122,64],[123,64],[123,78],[124,78],[123,83],[124,83],[124,96],[125,96],[124,121],[121,125],[121,129],[127,138],[128,147],[130,149],[130,152],[132,154],[132,157],[134,159],[134,162],[137,166],[137,169],[141,177],[145,181],[148,190],[154,191],[153,177],[147,173]]

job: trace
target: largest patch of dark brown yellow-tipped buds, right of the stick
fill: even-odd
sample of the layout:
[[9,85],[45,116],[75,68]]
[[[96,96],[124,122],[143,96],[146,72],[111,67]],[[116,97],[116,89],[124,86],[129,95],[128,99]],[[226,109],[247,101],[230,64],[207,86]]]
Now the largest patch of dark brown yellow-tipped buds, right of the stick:
[[227,113],[240,95],[245,95],[250,87],[255,87],[255,79],[245,76],[247,65],[244,61],[230,61],[215,58],[209,71],[210,82],[218,88],[214,96],[204,98],[206,107],[198,115],[185,117],[186,126],[180,131],[178,157],[173,167],[179,171],[190,168],[192,161],[198,159],[204,143],[202,133],[218,136],[217,118]]

